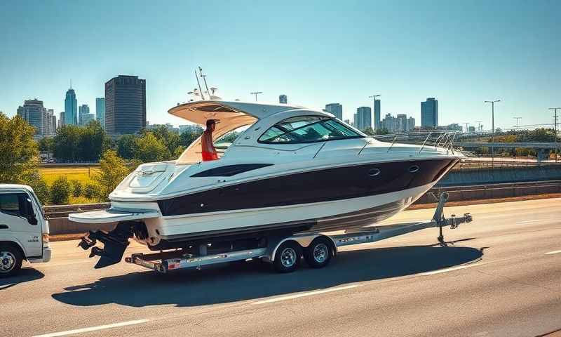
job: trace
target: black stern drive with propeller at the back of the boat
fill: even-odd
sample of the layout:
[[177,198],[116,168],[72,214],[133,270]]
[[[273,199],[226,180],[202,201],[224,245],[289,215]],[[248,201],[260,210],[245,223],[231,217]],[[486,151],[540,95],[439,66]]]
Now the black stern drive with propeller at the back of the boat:
[[[133,237],[130,223],[119,223],[111,232],[103,232],[101,230],[90,231],[86,236],[82,237],[82,241],[78,246],[85,251],[91,249],[90,258],[100,256],[100,260],[95,265],[95,269],[99,269],[121,262],[130,237]],[[95,246],[97,240],[103,243],[102,249]]]

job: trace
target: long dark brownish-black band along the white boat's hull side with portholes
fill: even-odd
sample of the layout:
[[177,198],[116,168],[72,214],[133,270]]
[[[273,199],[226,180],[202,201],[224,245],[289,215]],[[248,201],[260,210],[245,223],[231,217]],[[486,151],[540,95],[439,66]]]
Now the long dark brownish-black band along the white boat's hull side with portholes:
[[[295,173],[163,199],[158,206],[163,216],[180,216],[370,197],[433,183],[457,161],[393,161]],[[411,172],[414,166],[418,171]]]

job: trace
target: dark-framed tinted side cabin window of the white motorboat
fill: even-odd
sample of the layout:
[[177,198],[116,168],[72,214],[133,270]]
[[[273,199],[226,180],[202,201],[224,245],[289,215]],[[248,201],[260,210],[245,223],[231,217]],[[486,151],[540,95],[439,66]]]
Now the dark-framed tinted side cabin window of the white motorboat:
[[259,143],[312,143],[325,140],[363,138],[337,119],[318,116],[299,116],[285,119],[271,126],[257,140]]

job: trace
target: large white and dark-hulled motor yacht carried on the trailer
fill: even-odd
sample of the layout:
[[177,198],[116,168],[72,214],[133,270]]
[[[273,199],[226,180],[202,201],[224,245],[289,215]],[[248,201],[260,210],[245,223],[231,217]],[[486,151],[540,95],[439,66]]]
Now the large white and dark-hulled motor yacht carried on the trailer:
[[296,105],[213,99],[168,112],[194,124],[218,121],[219,159],[201,161],[198,138],[175,161],[138,166],[109,194],[109,209],[70,214],[74,222],[117,224],[81,242],[102,256],[96,267],[119,262],[130,237],[161,251],[227,237],[360,230],[405,209],[463,157],[452,142],[382,142]]

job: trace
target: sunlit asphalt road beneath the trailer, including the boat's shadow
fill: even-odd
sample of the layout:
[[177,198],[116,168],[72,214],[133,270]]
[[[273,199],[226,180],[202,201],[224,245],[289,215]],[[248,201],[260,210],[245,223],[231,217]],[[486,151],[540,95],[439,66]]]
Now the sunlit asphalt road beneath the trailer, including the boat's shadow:
[[474,221],[445,230],[448,247],[432,228],[286,275],[261,263],[93,270],[76,242],[54,242],[50,263],[0,279],[0,336],[539,336],[561,329],[560,206],[450,207]]

